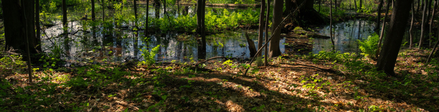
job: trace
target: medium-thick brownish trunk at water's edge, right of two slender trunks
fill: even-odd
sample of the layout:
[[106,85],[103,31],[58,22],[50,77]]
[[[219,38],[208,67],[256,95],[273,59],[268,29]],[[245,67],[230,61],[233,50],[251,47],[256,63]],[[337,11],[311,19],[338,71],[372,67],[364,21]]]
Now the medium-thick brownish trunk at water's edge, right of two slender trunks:
[[[312,1],[312,0],[310,0]],[[271,27],[271,34],[273,35],[272,40],[270,41],[270,50],[269,50],[269,58],[277,57],[281,55],[281,49],[279,48],[279,42],[281,39],[281,30],[277,30],[276,26],[281,24],[282,21],[282,10],[284,8],[283,0],[274,0],[273,2],[273,20]]]

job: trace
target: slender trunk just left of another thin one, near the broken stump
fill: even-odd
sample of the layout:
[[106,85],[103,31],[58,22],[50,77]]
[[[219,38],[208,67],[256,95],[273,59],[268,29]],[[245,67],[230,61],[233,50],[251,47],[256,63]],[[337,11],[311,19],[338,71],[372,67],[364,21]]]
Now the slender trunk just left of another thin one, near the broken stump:
[[[288,1],[288,0],[287,0]],[[259,33],[258,33],[258,49],[260,49],[262,47],[262,42],[263,40],[263,35],[264,35],[264,19],[265,19],[265,0],[261,0],[261,12],[259,14]],[[261,57],[262,56],[262,52],[260,52],[259,54],[256,54],[257,57]]]

